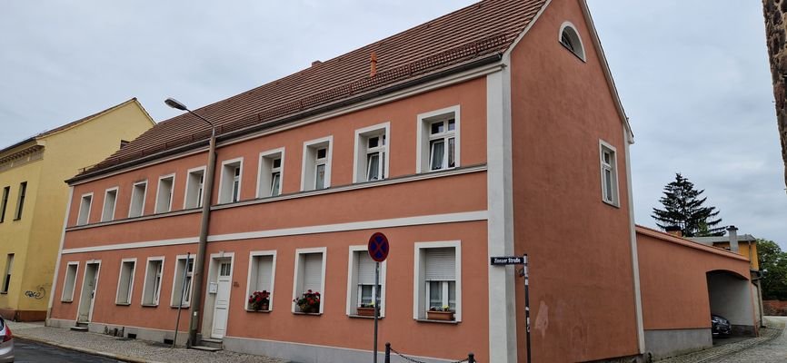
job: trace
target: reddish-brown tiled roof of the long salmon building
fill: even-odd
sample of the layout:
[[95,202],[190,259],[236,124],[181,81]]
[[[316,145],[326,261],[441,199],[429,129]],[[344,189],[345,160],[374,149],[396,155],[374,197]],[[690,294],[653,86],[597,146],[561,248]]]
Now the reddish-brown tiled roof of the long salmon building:
[[[545,2],[485,0],[194,112],[215,123],[222,135],[472,64],[507,50]],[[373,52],[376,74],[370,77]],[[206,123],[189,113],[181,114],[156,124],[72,181],[155,158],[174,148],[203,145],[209,135]]]

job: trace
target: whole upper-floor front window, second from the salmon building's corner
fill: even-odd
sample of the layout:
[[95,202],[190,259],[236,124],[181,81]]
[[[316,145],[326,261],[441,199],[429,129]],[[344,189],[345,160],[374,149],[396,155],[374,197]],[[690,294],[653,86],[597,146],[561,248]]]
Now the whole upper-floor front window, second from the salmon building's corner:
[[354,182],[372,182],[388,175],[388,129],[383,123],[355,130]]

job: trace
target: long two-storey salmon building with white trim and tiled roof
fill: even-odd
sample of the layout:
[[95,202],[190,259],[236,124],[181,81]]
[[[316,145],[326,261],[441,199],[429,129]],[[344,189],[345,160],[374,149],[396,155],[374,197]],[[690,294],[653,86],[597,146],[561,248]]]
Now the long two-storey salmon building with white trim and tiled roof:
[[527,253],[533,360],[643,353],[631,132],[583,0],[483,1],[194,112],[218,133],[204,276],[210,127],[184,113],[68,181],[48,324],[162,341],[200,301],[178,343],[196,313],[226,349],[368,362],[379,289],[381,351],[517,362],[523,279],[490,258]]

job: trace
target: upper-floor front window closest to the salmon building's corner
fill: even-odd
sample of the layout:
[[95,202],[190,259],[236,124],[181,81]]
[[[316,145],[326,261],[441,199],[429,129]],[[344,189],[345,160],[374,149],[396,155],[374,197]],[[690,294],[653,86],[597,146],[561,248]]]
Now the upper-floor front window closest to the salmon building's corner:
[[416,172],[459,166],[459,106],[418,115]]

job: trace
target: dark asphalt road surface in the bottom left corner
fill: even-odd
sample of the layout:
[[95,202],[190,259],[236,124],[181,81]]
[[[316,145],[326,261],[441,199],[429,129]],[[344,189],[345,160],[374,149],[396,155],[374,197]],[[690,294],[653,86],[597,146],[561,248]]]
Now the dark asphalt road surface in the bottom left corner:
[[92,356],[23,338],[14,338],[15,363],[116,363],[121,360]]

